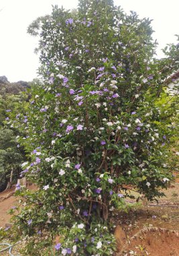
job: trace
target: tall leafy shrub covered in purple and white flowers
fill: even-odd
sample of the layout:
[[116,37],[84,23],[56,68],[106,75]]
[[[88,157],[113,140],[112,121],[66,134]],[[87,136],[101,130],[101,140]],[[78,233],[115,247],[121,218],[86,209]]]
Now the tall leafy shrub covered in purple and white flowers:
[[25,206],[16,221],[35,237],[60,234],[57,255],[113,254],[109,223],[130,196],[125,185],[151,200],[172,178],[176,108],[166,125],[157,102],[178,50],[170,45],[156,59],[152,32],[149,19],[109,0],[81,0],[75,11],[55,6],[29,26],[40,36],[44,81],[12,125],[26,133],[23,173],[39,189],[19,188]]

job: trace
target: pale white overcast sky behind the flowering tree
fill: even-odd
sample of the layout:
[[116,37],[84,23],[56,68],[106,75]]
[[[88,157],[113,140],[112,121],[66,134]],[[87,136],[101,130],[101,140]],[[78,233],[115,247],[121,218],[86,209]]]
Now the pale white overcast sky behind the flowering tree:
[[[27,34],[27,26],[39,16],[50,14],[55,4],[71,9],[77,7],[78,0],[0,0],[0,76],[7,76],[9,82],[32,81],[37,77],[39,62],[34,49],[38,40]],[[115,0],[115,4],[127,12],[136,11],[140,18],[154,20],[154,38],[159,49],[176,43],[178,0]]]

